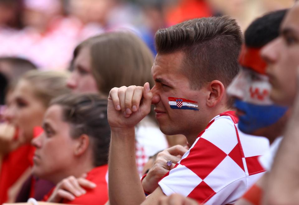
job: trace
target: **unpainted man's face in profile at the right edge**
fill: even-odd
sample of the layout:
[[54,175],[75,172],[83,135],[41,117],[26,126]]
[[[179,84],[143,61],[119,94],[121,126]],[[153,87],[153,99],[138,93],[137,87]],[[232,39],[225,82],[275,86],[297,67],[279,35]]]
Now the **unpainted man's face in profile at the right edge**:
[[270,98],[281,105],[292,105],[296,95],[299,66],[299,2],[287,13],[280,36],[266,45],[262,57],[272,85]]

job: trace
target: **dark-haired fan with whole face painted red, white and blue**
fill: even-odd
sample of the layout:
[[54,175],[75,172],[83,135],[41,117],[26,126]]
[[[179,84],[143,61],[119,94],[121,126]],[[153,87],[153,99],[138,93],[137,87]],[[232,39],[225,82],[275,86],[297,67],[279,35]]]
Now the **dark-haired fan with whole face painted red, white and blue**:
[[[274,104],[270,99],[271,85],[266,75],[266,62],[260,56],[261,48],[279,35],[279,26],[287,10],[268,13],[252,22],[245,31],[239,63],[242,69],[227,89],[235,99],[239,117],[239,129],[247,134],[265,136],[271,142],[271,150],[259,158],[267,170],[271,167],[273,150],[277,150],[283,129],[287,123],[288,107]],[[275,140],[276,139],[276,140]],[[263,175],[238,205],[261,204],[268,174]]]

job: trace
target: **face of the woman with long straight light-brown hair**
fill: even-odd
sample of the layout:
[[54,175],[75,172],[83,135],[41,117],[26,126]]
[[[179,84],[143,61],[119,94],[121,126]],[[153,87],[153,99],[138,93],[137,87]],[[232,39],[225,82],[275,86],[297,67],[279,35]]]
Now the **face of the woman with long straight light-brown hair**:
[[75,93],[98,93],[97,82],[91,73],[90,48],[81,48],[74,60],[74,70],[70,75],[67,86]]

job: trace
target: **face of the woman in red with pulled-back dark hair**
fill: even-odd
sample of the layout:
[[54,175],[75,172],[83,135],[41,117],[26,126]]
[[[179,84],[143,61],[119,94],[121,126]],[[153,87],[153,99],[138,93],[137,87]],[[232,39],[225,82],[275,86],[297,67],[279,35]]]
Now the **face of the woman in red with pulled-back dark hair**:
[[62,108],[50,106],[45,113],[44,132],[32,140],[36,147],[32,173],[54,183],[72,167],[75,139],[69,135],[69,123],[62,120]]

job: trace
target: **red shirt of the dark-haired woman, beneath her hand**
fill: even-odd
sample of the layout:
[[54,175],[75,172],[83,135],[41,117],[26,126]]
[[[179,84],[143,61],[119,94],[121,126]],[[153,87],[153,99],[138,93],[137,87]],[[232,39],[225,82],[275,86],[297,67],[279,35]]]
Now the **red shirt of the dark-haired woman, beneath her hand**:
[[[108,201],[108,184],[107,184],[108,164],[93,168],[87,175],[86,179],[97,184],[94,189],[86,189],[86,194],[76,197],[73,201],[62,200],[64,204],[82,204],[82,205],[102,205]],[[55,188],[52,189],[44,198],[47,201]]]

